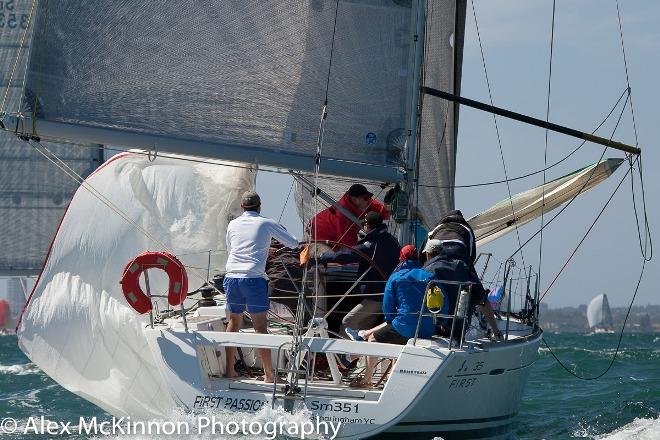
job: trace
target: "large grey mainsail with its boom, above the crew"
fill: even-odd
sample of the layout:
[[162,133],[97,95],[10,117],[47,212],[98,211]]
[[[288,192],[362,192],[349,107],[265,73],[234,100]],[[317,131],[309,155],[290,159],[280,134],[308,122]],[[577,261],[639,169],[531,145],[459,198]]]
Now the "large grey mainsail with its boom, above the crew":
[[395,180],[390,140],[410,129],[415,90],[411,3],[39,2],[19,126],[310,171],[327,86],[322,172]]

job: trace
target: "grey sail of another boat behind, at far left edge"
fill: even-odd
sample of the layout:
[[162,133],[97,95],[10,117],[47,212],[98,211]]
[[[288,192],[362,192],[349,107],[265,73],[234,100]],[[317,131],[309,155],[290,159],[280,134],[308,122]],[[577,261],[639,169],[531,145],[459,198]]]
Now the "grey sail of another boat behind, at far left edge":
[[[22,96],[28,17],[32,0],[0,3],[0,99],[16,109]],[[21,41],[25,37],[23,48]],[[102,161],[101,150],[48,144],[76,173],[87,176]],[[0,275],[36,275],[77,184],[38,151],[0,131]]]

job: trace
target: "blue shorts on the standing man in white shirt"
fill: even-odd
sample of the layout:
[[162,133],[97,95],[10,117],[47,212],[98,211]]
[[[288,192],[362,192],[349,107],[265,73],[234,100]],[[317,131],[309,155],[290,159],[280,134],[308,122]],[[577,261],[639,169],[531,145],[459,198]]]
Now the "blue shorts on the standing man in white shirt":
[[270,308],[268,281],[263,278],[225,277],[222,286],[229,313],[243,313],[246,305],[250,313],[263,313]]

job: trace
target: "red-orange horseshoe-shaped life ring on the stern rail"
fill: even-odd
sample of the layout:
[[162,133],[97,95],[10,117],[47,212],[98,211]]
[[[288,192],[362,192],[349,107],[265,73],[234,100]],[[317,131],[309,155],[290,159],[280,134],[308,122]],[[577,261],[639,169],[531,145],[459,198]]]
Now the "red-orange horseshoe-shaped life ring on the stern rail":
[[144,252],[131,260],[121,276],[121,288],[128,304],[143,315],[152,309],[149,298],[140,287],[140,275],[145,269],[162,269],[170,279],[167,301],[178,306],[188,294],[188,275],[183,264],[167,252]]

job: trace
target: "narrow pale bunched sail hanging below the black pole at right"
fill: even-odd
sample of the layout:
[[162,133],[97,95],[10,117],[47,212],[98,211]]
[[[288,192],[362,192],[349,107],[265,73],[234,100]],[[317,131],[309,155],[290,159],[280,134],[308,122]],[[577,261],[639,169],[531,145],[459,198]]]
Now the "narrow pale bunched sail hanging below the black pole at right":
[[468,223],[474,229],[477,246],[483,246],[513,231],[516,226],[520,227],[540,217],[542,207],[547,214],[590,190],[610,177],[621,163],[623,159],[604,159],[545,185],[516,194],[511,199],[502,200],[475,215]]

